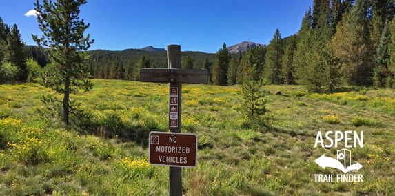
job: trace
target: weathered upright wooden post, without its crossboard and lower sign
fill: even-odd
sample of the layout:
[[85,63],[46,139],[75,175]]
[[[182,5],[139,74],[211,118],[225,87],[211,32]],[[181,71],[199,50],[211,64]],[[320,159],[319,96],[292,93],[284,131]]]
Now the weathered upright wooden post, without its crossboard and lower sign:
[[[168,46],[168,68],[181,69],[181,46]],[[169,129],[175,133],[181,133],[181,92],[182,84],[170,80],[169,85]],[[174,101],[176,98],[176,101]],[[173,102],[173,103],[172,103]],[[176,104],[174,104],[174,102]],[[175,108],[176,111],[172,108]],[[169,167],[170,196],[182,196],[183,184],[181,181],[181,167]]]

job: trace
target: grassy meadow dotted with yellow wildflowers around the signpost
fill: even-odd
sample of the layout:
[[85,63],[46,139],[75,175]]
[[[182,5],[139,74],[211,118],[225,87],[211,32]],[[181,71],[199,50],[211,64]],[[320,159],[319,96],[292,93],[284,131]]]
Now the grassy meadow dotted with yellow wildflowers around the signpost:
[[[168,128],[168,84],[92,82],[72,96],[88,117],[69,128],[59,113],[40,115],[52,90],[0,86],[0,195],[168,195],[168,167],[148,164],[148,134]],[[264,90],[267,126],[259,126],[240,114],[239,86],[183,85],[182,131],[199,138],[198,166],[183,168],[184,195],[395,195],[394,90]],[[317,132],[330,130],[363,131],[363,148],[350,148],[363,168],[347,173],[363,182],[315,182],[314,174],[343,174],[314,162],[344,148],[344,139],[314,148]]]

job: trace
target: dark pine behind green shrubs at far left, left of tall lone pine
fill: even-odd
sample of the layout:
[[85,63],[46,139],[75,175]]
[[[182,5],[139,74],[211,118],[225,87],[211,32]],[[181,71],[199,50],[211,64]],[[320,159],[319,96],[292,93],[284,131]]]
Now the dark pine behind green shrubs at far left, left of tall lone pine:
[[21,34],[16,24],[12,26],[11,33],[7,37],[7,57],[8,61],[18,68],[18,79],[24,81],[28,79],[28,61],[25,53],[25,43],[21,40]]

